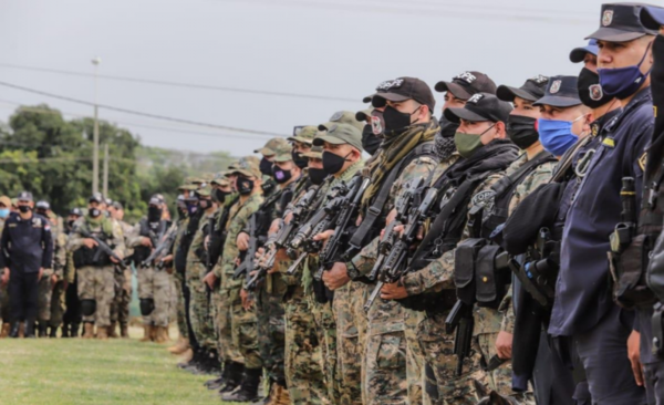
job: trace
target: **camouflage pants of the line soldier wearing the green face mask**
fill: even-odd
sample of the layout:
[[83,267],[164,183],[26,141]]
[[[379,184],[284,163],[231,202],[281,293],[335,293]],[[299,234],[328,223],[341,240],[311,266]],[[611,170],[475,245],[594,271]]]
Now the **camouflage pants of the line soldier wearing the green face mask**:
[[417,338],[425,355],[426,392],[432,404],[474,405],[479,402],[474,380],[486,385],[486,373],[479,365],[479,353],[471,351],[464,360],[464,374],[456,375],[457,357],[454,354],[454,334],[445,333],[448,312],[427,316],[417,325]]

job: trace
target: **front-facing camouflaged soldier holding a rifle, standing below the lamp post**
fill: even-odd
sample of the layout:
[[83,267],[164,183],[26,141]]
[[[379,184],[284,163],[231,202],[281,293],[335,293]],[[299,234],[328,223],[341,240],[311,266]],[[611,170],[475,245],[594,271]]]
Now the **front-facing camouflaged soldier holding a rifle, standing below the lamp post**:
[[83,237],[79,230],[83,229],[101,239],[105,239],[115,255],[121,259],[125,255],[125,245],[122,229],[111,219],[104,217],[100,206],[103,200],[100,196],[90,198],[89,214],[76,220],[74,230],[68,240],[68,250],[73,252],[74,266],[77,272],[79,298],[83,310],[85,323],[84,339],[94,338],[94,325],[97,326],[97,339],[108,338],[107,328],[111,325],[111,304],[115,293],[115,259],[100,255],[95,259],[96,242]]

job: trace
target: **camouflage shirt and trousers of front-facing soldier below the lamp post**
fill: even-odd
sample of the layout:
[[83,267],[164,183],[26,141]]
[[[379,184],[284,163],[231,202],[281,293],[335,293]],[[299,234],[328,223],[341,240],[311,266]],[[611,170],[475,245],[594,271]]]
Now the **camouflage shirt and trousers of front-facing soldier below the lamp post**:
[[[108,246],[121,258],[125,256],[125,245],[122,236],[122,229],[115,222],[107,218],[92,219],[90,217],[79,218],[74,229],[85,227],[91,232],[104,232],[110,237]],[[68,240],[68,250],[75,252],[83,247],[83,237],[72,231]],[[98,328],[111,325],[111,304],[115,294],[115,267],[84,266],[76,269],[79,282],[79,299],[96,301],[94,314],[84,315],[84,322],[94,322]]]

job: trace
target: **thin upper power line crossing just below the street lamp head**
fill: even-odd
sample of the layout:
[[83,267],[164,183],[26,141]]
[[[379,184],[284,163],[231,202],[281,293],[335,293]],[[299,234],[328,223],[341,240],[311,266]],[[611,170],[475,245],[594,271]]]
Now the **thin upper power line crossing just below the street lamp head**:
[[[91,79],[94,77],[94,74],[92,74],[92,73],[74,72],[74,71],[66,71],[66,70],[60,70],[60,69],[24,66],[24,65],[11,64],[11,63],[0,63],[0,68],[17,69],[17,70],[32,71],[32,72],[42,72],[42,73],[55,73],[55,74],[76,76],[76,77],[91,77]],[[128,83],[156,84],[156,85],[166,85],[166,86],[194,89],[194,90],[211,90],[211,91],[247,93],[247,94],[269,95],[269,96],[279,96],[279,97],[309,98],[309,100],[338,101],[338,102],[352,102],[352,103],[357,103],[360,100],[360,98],[335,97],[335,96],[315,95],[315,94],[300,94],[300,93],[272,92],[272,91],[267,91],[267,90],[226,87],[226,86],[218,86],[218,85],[211,85],[211,84],[170,82],[170,81],[154,80],[154,79],[115,76],[115,75],[107,75],[107,74],[100,74],[100,75],[97,75],[97,79],[113,80],[113,81],[121,81],[121,82],[128,82]]]

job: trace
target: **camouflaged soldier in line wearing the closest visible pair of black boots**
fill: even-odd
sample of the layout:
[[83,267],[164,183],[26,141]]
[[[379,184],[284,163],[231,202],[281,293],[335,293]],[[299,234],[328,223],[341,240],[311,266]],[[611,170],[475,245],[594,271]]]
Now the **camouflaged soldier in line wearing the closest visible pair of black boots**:
[[[221,280],[220,294],[221,302],[225,304],[220,308],[227,311],[227,315],[220,313],[220,324],[222,329],[228,328],[227,322],[230,319],[230,338],[229,352],[225,353],[224,361],[229,360],[228,356],[236,356],[239,351],[241,359],[234,360],[235,363],[243,364],[243,376],[239,388],[235,390],[230,383],[238,382],[237,374],[240,370],[234,370],[234,374],[229,377],[229,384],[221,391],[224,392],[222,401],[255,401],[258,395],[258,385],[262,374],[262,360],[258,349],[258,330],[256,307],[248,302],[247,297],[242,294],[242,280],[232,278],[236,268],[237,258],[240,256],[238,248],[238,235],[248,224],[249,217],[258,210],[263,202],[261,193],[261,170],[256,159],[242,158],[231,169],[235,189],[240,198],[236,205],[231,207],[229,221],[227,224],[227,237],[224,243],[224,252],[221,255],[221,264],[216,266],[214,271],[208,274],[206,282],[210,288],[215,285],[217,279]],[[228,340],[225,332],[221,339]],[[235,391],[234,391],[235,390]],[[232,391],[232,392],[231,392]]]

